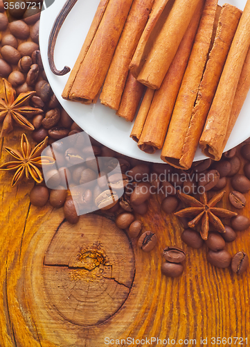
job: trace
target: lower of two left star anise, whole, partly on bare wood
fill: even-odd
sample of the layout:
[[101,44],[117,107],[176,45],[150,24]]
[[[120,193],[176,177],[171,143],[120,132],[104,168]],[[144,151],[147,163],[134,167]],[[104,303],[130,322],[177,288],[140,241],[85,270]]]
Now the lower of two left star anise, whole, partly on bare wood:
[[53,164],[54,159],[46,155],[41,156],[42,151],[46,148],[48,137],[44,141],[40,142],[35,146],[35,149],[31,151],[30,143],[25,134],[21,135],[21,153],[15,149],[5,147],[5,150],[15,158],[12,162],[6,162],[1,165],[0,170],[4,171],[16,171],[13,176],[11,186],[14,187],[19,180],[29,178],[31,176],[37,183],[43,181],[42,173],[39,167],[42,165]]

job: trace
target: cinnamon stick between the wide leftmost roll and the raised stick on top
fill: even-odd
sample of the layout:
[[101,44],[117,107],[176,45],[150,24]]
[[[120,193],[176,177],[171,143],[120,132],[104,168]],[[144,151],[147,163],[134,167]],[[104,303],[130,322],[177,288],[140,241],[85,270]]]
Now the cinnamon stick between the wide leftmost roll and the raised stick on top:
[[100,102],[118,110],[130,62],[154,0],[134,0],[100,94]]

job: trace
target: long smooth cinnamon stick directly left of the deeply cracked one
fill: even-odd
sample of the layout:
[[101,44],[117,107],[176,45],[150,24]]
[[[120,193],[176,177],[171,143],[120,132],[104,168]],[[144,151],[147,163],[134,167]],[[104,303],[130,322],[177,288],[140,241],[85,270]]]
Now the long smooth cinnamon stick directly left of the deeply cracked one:
[[193,47],[203,7],[204,1],[200,1],[195,10],[195,15],[181,40],[175,58],[163,79],[163,83],[161,83],[159,90],[154,93],[154,99],[138,144],[139,149],[146,153],[155,153],[157,149],[161,149],[163,146],[175,100],[188,65],[188,58]]

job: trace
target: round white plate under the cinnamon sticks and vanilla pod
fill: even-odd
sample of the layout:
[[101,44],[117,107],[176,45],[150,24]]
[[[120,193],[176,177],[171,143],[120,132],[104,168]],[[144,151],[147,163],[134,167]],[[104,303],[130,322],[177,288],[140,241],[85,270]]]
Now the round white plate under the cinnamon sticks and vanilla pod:
[[[99,0],[78,0],[68,17],[66,18],[60,33],[57,37],[55,45],[55,66],[62,69],[65,65],[73,68],[75,60],[87,35],[89,26],[91,25]],[[224,1],[219,0],[219,4],[223,5]],[[241,10],[244,8],[246,0],[229,0],[234,6]],[[40,49],[44,70],[51,84],[53,92],[62,104],[62,107],[69,113],[73,120],[84,129],[94,139],[98,140],[105,146],[114,149],[119,153],[123,153],[132,158],[148,160],[150,162],[162,162],[160,158],[161,151],[157,151],[153,155],[144,153],[139,150],[130,138],[130,132],[133,124],[127,123],[124,119],[115,115],[115,112],[104,105],[100,101],[96,105],[83,105],[73,101],[62,99],[62,90],[66,84],[69,74],[65,76],[55,76],[48,66],[48,37],[55,21],[55,17],[60,12],[64,1],[55,0],[55,2],[46,10],[42,11],[39,29]],[[244,103],[238,121],[235,124],[229,142],[225,151],[237,146],[244,139],[250,136],[250,96]],[[195,154],[195,161],[206,158],[198,149]]]

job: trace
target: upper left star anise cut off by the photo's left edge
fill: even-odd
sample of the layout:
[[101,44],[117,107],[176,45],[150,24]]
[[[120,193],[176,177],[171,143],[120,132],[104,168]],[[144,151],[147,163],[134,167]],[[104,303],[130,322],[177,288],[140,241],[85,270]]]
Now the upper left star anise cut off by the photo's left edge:
[[28,100],[35,94],[33,92],[21,93],[15,99],[16,92],[11,84],[3,78],[3,98],[0,98],[0,121],[3,121],[0,137],[13,130],[13,121],[27,130],[34,130],[34,126],[24,117],[39,115],[43,110],[27,105]]

